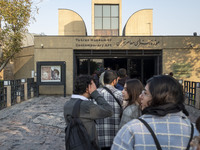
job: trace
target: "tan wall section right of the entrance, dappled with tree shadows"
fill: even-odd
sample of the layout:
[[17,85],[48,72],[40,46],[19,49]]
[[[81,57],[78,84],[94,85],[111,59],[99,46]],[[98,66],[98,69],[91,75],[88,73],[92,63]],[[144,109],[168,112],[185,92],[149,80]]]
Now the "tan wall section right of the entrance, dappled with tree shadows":
[[200,80],[200,48],[164,49],[163,74],[173,72],[176,79]]

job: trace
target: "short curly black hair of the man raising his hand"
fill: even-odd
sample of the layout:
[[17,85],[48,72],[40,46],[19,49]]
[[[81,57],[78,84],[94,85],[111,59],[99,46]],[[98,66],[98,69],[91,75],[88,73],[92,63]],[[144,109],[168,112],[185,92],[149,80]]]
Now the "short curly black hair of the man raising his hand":
[[90,75],[80,75],[76,78],[73,94],[82,95],[86,92],[89,84],[93,80]]

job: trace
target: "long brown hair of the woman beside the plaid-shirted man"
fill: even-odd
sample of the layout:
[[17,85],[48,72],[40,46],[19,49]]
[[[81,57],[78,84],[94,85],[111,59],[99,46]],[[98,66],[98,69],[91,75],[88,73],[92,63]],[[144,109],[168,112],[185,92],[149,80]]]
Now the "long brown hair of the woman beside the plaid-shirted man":
[[[143,84],[138,79],[129,79],[126,81],[126,89],[129,95],[129,98],[126,100],[128,101],[127,106],[139,102],[139,95],[142,93],[144,89]],[[126,107],[127,107],[126,106]]]

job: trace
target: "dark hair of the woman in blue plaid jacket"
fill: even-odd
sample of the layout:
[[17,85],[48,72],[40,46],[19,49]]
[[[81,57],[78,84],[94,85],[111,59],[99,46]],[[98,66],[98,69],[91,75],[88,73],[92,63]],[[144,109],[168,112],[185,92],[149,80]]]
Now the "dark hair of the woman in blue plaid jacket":
[[183,104],[182,85],[169,75],[158,75],[147,80],[152,95],[150,106],[160,106],[168,103]]

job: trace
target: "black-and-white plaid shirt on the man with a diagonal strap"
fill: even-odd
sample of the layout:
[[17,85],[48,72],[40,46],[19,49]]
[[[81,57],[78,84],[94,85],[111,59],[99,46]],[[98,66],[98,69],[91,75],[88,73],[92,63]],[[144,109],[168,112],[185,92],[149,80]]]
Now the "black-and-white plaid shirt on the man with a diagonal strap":
[[[109,88],[117,99],[122,103],[122,92],[117,90],[112,85],[105,85]],[[98,92],[105,98],[105,100],[113,108],[113,115],[104,119],[97,120],[98,141],[100,147],[111,147],[113,139],[119,130],[120,124],[120,106],[105,89],[99,88]]]

